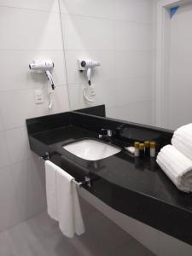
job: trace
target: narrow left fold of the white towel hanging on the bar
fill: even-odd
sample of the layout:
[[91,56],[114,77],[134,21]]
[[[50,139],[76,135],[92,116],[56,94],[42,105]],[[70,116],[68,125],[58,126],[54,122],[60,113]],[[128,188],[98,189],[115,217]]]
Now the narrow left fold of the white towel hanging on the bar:
[[58,220],[56,202],[56,169],[57,166],[52,162],[49,160],[45,161],[47,212],[50,218]]

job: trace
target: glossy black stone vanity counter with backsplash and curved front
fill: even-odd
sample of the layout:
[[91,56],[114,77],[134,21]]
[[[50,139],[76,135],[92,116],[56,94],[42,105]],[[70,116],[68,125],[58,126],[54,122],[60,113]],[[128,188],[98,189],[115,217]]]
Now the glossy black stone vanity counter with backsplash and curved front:
[[[111,125],[113,130],[122,125],[119,120],[62,113],[26,122],[32,151],[40,156],[49,152],[50,160],[77,181],[91,177],[91,187],[84,185],[84,189],[113,209],[192,245],[192,195],[179,191],[155,159],[132,157],[125,150],[127,142],[119,137],[113,137],[110,143],[122,151],[102,160],[84,160],[62,148],[83,138],[97,139],[101,127],[109,129]],[[144,125],[135,126],[151,130]],[[169,143],[172,133],[159,132],[161,143]]]

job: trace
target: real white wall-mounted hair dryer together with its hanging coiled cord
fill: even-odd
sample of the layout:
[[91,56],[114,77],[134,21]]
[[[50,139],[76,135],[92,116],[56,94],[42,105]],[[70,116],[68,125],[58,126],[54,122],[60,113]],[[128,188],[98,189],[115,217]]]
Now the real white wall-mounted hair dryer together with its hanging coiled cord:
[[[29,68],[30,70],[37,73],[46,73],[47,79],[49,80],[52,90],[55,90],[55,84],[54,84],[53,76],[51,73],[51,71],[54,69],[53,61],[32,61],[32,63],[29,64]],[[53,105],[52,90],[49,90],[48,88],[49,109],[52,108],[52,105]]]

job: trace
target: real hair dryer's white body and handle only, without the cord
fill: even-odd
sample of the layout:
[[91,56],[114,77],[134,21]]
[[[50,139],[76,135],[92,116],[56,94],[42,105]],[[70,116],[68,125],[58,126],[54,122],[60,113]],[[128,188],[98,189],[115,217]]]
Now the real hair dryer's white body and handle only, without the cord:
[[50,73],[54,69],[54,62],[53,61],[32,61],[29,64],[29,68],[38,73],[46,73],[47,78],[51,84],[52,89],[55,89],[53,76]]

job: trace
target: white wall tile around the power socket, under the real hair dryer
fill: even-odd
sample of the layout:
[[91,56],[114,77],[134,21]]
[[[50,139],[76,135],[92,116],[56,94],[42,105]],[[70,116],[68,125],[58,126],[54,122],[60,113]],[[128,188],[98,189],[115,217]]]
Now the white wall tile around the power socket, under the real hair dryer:
[[48,109],[49,98],[47,87],[42,89],[44,104],[37,105],[34,101],[34,90],[9,90],[0,93],[0,108],[2,108],[5,129],[25,125],[27,118],[68,110],[67,86],[56,87],[53,97],[53,108]]

